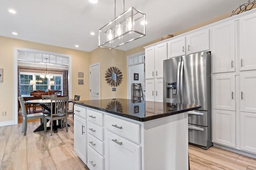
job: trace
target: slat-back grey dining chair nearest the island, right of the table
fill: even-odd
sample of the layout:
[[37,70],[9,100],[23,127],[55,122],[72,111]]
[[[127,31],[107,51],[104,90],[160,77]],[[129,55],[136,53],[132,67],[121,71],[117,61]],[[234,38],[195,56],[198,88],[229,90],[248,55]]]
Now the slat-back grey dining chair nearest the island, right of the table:
[[[68,96],[67,97],[57,97],[57,98],[51,98],[51,114],[45,115],[44,117],[44,131],[46,132],[46,122],[47,119],[54,121],[54,120],[60,120],[61,127],[63,127],[63,119],[65,120],[65,127],[66,132],[68,132],[68,118],[67,118],[67,107],[66,104],[68,103]],[[52,126],[53,123],[51,123],[51,136],[52,136]]]

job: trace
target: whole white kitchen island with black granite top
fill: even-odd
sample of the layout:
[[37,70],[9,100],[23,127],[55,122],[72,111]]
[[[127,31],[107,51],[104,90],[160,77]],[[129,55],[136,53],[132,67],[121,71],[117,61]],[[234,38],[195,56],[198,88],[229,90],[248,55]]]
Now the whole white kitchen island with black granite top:
[[197,105],[74,101],[74,150],[90,170],[187,170],[188,111]]

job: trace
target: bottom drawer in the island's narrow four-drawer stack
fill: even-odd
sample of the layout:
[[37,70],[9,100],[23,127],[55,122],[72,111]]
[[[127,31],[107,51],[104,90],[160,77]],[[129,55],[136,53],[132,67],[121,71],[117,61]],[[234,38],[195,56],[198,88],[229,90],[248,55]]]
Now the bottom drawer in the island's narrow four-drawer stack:
[[104,170],[104,157],[87,145],[87,166],[90,170]]

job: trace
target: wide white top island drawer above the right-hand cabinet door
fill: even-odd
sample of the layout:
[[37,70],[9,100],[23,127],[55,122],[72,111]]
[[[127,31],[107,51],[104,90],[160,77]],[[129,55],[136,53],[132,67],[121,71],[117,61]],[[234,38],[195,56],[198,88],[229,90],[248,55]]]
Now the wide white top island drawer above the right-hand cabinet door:
[[140,143],[140,125],[109,115],[105,115],[105,120],[105,126],[108,129]]

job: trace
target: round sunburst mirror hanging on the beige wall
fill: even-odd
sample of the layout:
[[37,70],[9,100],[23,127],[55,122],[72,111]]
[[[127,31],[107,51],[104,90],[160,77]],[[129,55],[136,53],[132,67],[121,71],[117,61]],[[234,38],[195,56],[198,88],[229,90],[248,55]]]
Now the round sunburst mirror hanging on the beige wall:
[[106,70],[106,81],[110,86],[119,86],[122,82],[122,72],[116,67],[110,67]]

